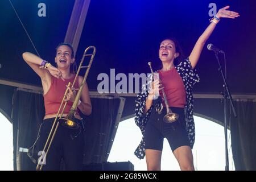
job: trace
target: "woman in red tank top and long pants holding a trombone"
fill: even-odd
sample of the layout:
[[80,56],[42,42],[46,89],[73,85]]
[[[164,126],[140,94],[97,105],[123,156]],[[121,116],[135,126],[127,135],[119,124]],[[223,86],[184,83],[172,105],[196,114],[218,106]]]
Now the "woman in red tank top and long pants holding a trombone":
[[[64,97],[65,90],[68,88],[67,106],[64,109],[63,117],[68,114],[69,109],[76,97],[76,91],[68,86],[68,82],[73,82],[75,74],[71,72],[71,65],[75,63],[73,47],[68,43],[61,43],[56,48],[55,63],[56,67],[41,59],[40,57],[24,52],[23,59],[41,78],[44,92],[44,107],[46,115],[44,116],[39,131],[39,151],[43,151],[44,144],[48,138],[53,121],[57,117],[57,111]],[[83,77],[79,76],[77,82],[72,88],[79,88]],[[81,113],[90,115],[92,106],[90,103],[89,90],[85,82],[81,98],[76,110],[76,122],[81,125]],[[60,115],[59,115],[60,116]],[[83,130],[71,130],[60,126],[53,139],[52,146],[43,165],[44,170],[59,170],[61,159],[64,160],[65,169],[81,170],[82,156],[84,152],[84,135]],[[37,154],[35,154],[37,155]]]

